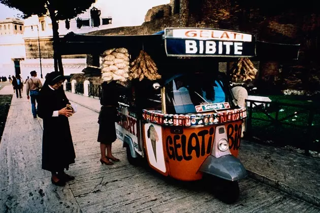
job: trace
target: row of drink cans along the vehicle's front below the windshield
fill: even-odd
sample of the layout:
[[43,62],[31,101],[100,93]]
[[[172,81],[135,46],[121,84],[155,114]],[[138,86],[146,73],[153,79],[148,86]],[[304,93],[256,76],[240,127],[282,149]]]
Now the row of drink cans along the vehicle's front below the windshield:
[[246,118],[246,109],[235,109],[221,111],[214,114],[192,114],[192,115],[173,115],[163,114],[157,111],[143,110],[142,116],[144,120],[167,126],[196,126],[196,125],[212,125],[227,121],[235,121]]

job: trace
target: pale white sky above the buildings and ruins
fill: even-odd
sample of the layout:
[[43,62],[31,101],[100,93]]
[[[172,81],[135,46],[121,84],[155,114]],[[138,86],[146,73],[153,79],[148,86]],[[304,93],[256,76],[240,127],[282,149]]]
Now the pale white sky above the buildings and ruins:
[[[170,0],[98,0],[94,6],[101,10],[101,17],[112,17],[114,27],[141,25],[148,9],[169,4]],[[20,11],[0,4],[0,20],[18,17]]]

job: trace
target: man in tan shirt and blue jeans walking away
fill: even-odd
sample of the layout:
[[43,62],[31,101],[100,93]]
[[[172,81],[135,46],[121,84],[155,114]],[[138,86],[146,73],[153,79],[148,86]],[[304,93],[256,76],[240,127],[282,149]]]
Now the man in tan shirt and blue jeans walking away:
[[[37,72],[35,70],[30,72],[31,78],[26,81],[26,94],[27,99],[31,97],[31,110],[34,118],[37,118],[37,108],[36,108],[36,100],[39,95],[39,90],[42,88],[42,83],[39,78],[37,78]],[[30,92],[30,96],[29,96]],[[38,103],[38,100],[37,100]]]

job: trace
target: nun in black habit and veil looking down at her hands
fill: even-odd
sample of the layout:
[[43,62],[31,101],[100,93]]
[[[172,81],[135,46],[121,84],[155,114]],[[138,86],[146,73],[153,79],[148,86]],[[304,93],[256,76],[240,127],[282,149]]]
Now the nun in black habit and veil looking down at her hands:
[[51,171],[51,182],[64,186],[74,176],[65,173],[75,162],[68,117],[73,110],[61,85],[65,77],[57,72],[49,73],[39,93],[38,116],[43,119],[42,169]]

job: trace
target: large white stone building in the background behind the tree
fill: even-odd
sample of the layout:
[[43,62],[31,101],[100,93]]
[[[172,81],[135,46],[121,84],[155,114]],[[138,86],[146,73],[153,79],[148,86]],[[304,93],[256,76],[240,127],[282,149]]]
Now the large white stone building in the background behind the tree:
[[[87,33],[94,30],[114,27],[111,17],[102,16],[100,16],[100,26],[94,27],[90,16],[90,9],[83,14],[79,14],[76,18],[71,19],[69,21],[69,29],[66,28],[66,21],[59,21],[58,31],[60,37],[63,37],[71,31],[75,33]],[[82,20],[82,26],[80,28],[77,27],[78,18]],[[36,70],[38,76],[40,77],[42,72],[44,78],[47,73],[54,70],[53,57],[48,57],[45,51],[41,51],[40,66],[40,54],[38,55],[39,45],[37,45],[38,49],[34,49],[34,51],[37,51],[37,57],[30,57],[26,49],[31,41],[34,43],[39,39],[42,46],[43,42],[52,40],[52,23],[50,17],[38,17],[34,15],[25,19],[24,26],[22,25],[23,34],[15,34],[15,31],[10,31],[9,33],[8,28],[10,30],[15,29],[15,22],[13,22],[13,20],[16,21],[16,19],[8,18],[0,22],[3,30],[4,24],[6,25],[6,31],[2,31],[2,35],[0,34],[0,52],[2,53],[2,57],[0,57],[0,76],[15,76],[17,72],[20,72],[21,77],[25,79],[27,76],[30,76],[29,73],[31,70]],[[11,23],[11,25],[8,25],[9,23]],[[17,29],[20,29],[20,26],[17,26]],[[35,48],[35,46],[33,46],[33,48]],[[43,49],[43,47],[41,49]],[[86,67],[86,55],[78,55],[74,58],[62,58],[62,64],[65,75],[67,76],[81,73]]]

